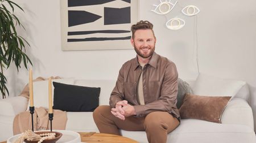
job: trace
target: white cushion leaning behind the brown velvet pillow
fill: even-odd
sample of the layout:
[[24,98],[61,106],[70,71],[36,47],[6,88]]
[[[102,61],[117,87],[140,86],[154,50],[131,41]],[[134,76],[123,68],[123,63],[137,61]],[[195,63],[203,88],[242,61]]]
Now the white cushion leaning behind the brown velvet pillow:
[[200,73],[193,87],[193,92],[196,95],[232,96],[233,98],[245,84],[245,81],[220,79]]

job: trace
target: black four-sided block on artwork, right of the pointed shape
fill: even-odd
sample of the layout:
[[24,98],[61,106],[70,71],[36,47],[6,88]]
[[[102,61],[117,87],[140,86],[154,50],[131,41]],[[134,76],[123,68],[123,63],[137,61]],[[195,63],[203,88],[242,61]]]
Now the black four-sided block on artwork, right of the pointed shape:
[[131,23],[131,7],[104,7],[104,25]]

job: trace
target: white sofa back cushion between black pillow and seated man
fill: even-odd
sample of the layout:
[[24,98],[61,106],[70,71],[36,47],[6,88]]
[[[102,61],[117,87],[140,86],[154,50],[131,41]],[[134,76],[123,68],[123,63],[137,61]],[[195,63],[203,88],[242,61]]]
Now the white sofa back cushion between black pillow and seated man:
[[100,105],[109,105],[109,97],[115,82],[115,80],[75,80],[75,85],[101,88],[99,103]]

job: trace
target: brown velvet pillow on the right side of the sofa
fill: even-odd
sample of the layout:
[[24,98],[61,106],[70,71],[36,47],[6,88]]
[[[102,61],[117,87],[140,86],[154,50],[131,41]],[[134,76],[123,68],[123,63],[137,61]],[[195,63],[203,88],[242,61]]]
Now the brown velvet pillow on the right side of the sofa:
[[231,97],[210,97],[185,94],[180,117],[221,123],[221,115]]

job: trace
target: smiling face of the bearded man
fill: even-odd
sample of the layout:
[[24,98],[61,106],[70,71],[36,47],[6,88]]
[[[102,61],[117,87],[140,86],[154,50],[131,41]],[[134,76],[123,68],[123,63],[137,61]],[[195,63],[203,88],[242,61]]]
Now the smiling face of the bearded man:
[[131,45],[141,58],[150,58],[155,51],[155,36],[151,29],[139,29],[131,38]]

